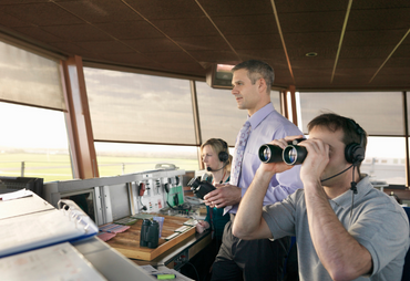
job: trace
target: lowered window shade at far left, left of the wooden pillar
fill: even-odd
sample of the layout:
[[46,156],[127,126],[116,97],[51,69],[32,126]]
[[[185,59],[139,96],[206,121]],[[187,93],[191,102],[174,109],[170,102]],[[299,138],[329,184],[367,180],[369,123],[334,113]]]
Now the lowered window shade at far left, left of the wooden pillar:
[[0,42],[0,100],[64,110],[59,63]]

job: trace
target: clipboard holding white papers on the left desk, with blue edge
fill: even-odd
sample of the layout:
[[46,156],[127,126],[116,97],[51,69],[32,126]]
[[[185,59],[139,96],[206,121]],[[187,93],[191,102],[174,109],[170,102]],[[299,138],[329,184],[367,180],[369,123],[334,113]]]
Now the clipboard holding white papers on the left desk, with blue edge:
[[0,258],[73,242],[99,232],[91,218],[72,200],[60,200],[58,207],[0,220]]

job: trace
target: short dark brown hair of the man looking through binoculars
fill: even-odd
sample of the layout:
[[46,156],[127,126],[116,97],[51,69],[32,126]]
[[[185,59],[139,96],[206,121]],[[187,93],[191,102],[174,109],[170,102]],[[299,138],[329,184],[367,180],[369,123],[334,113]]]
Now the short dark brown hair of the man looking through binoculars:
[[[344,138],[341,139],[346,146],[349,144],[360,144],[365,150],[367,146],[367,133],[356,123],[352,118],[340,116],[336,113],[324,113],[312,118],[307,125],[310,132],[314,127],[326,127],[330,132],[341,129],[344,132]],[[359,131],[361,131],[359,133]],[[362,140],[361,140],[362,138]],[[360,143],[361,140],[361,143]],[[357,166],[360,174],[360,164]]]

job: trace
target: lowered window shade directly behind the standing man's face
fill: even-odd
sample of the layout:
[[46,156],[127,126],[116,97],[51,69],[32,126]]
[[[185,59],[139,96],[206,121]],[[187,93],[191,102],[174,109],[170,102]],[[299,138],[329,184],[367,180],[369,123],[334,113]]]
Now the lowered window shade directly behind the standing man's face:
[[[238,110],[230,90],[212,89],[205,82],[195,84],[203,142],[217,137],[234,146],[236,135],[247,118],[247,111]],[[270,100],[280,112],[279,92],[271,91]]]

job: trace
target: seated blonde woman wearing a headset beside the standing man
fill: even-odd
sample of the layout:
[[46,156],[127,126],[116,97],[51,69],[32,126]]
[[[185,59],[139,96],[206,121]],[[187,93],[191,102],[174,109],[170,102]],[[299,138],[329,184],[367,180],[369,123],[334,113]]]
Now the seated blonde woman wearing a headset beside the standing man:
[[[229,155],[228,145],[221,138],[211,138],[201,146],[201,156],[205,169],[213,175],[213,185],[229,181],[232,155]],[[201,280],[211,279],[212,264],[219,251],[224,227],[229,221],[229,215],[224,216],[224,208],[209,208],[206,206],[207,215],[205,220],[199,220],[196,225],[196,231],[202,233],[211,228],[212,242],[198,254],[191,259]],[[195,271],[191,267],[183,267],[183,274],[197,279]]]

